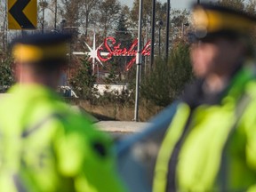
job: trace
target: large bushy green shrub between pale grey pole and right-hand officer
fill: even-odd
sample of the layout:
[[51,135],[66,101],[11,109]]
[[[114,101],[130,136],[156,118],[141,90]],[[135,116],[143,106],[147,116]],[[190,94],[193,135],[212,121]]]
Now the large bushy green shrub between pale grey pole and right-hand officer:
[[141,97],[162,107],[176,100],[193,78],[188,51],[188,44],[180,41],[172,48],[167,65],[158,58],[154,70],[141,83]]

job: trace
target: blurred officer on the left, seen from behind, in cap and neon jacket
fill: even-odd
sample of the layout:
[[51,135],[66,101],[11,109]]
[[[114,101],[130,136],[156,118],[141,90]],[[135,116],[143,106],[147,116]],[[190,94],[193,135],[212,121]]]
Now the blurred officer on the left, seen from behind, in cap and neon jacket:
[[15,39],[15,84],[0,104],[0,191],[124,191],[112,140],[54,90],[67,64],[65,34]]

